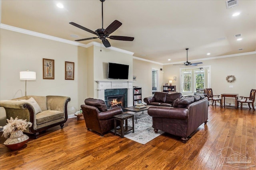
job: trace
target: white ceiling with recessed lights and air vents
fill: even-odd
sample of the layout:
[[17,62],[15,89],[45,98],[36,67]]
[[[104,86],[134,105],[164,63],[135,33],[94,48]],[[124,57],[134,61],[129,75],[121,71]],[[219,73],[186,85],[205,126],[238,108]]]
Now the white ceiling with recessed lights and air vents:
[[[56,6],[58,2],[63,9]],[[235,12],[240,15],[233,17]],[[122,23],[111,35],[134,37],[134,41],[108,39],[112,47],[163,64],[186,61],[186,48],[188,61],[256,51],[256,0],[238,0],[231,9],[226,9],[225,0],[106,0],[103,13],[104,28],[114,20]],[[95,37],[71,21],[93,31],[101,28],[100,0],[1,1],[3,24],[71,41]],[[237,41],[236,34],[243,39]],[[80,43],[91,41],[100,43],[100,39]]]

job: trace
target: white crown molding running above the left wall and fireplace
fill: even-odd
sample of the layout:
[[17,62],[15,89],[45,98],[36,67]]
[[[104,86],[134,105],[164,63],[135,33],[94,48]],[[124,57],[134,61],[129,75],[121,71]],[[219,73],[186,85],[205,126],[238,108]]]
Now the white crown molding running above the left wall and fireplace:
[[[46,34],[34,32],[34,31],[29,31],[27,29],[13,27],[13,26],[6,25],[6,24],[3,24],[3,23],[0,23],[0,28],[8,29],[10,31],[24,33],[24,34],[28,34],[28,35],[32,35],[32,36],[36,36],[36,37],[41,37],[41,38],[45,38],[45,39],[50,39],[50,40],[53,40],[53,41],[58,41],[58,42],[62,42],[62,43],[67,43],[67,44],[71,44],[71,45],[85,47],[85,48],[91,47],[92,45],[95,45],[95,46],[98,46],[98,47],[101,46],[100,43],[97,43],[97,42],[94,42],[94,41],[90,42],[88,44],[82,44],[82,43],[78,43],[76,41],[70,41],[70,40],[67,40],[67,39],[62,39],[62,38],[54,37],[54,36],[51,36],[51,35],[46,35]],[[106,48],[104,45],[102,47]],[[108,49],[113,50],[113,51],[118,51],[118,52],[121,52],[121,53],[126,53],[126,54],[129,54],[129,55],[134,54],[133,52],[126,51],[126,50],[123,50],[123,49],[118,49],[116,47],[108,47]]]

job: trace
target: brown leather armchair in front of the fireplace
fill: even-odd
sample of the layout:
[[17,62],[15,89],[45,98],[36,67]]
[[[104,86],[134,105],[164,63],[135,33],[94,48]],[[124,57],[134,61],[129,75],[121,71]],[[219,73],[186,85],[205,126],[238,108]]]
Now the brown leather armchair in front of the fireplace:
[[81,108],[87,130],[91,129],[101,136],[114,129],[114,115],[123,113],[120,107],[108,110],[103,100],[88,98],[84,103]]

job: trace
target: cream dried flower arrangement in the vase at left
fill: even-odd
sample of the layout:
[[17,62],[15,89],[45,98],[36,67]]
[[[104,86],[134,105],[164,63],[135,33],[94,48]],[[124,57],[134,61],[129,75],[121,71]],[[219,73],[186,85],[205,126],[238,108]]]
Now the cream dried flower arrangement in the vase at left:
[[9,119],[7,119],[6,125],[3,127],[3,137],[5,137],[6,139],[8,138],[8,136],[13,132],[13,131],[18,131],[21,130],[22,132],[26,130],[26,128],[29,126],[32,126],[32,123],[29,121],[27,122],[27,119],[23,120],[23,119],[18,119],[18,117],[16,117],[15,119],[13,119],[12,117]]

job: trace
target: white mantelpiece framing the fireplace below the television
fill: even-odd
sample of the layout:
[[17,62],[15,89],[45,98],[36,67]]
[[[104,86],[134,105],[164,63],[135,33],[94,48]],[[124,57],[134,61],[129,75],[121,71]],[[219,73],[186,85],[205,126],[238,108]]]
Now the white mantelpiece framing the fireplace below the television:
[[[105,99],[105,90],[108,92],[118,92],[123,91],[120,89],[127,89],[127,107],[133,106],[133,82],[123,82],[123,81],[96,81],[97,82],[97,98],[103,101]],[[112,90],[110,90],[112,89]],[[116,93],[114,94],[116,95]],[[112,96],[114,96],[112,95]],[[126,99],[125,99],[126,100]]]

